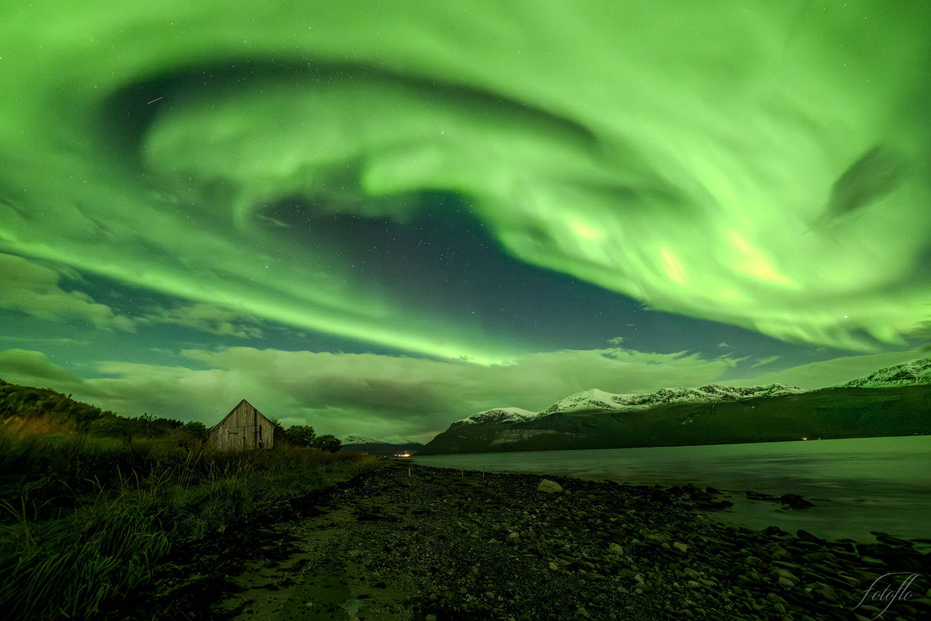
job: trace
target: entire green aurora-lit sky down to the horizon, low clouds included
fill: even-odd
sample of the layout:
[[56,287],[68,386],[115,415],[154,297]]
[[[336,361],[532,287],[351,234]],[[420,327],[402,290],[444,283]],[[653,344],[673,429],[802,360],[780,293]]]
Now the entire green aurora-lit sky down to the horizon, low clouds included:
[[[546,357],[908,359],[929,62],[921,2],[9,1],[0,377],[196,417],[280,367],[294,420],[416,434],[544,407],[501,378]],[[618,357],[681,373],[573,371]]]

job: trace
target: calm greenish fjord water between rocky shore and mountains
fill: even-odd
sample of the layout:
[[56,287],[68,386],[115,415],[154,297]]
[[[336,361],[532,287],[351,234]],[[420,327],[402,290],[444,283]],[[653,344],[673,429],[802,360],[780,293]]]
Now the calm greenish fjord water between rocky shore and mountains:
[[[648,485],[714,487],[734,506],[708,518],[762,529],[802,528],[826,538],[874,542],[870,531],[931,539],[931,436],[829,439],[590,451],[424,455],[425,466],[553,474]],[[744,494],[798,493],[807,509]],[[702,513],[705,513],[702,511]],[[926,545],[918,545],[928,549]]]

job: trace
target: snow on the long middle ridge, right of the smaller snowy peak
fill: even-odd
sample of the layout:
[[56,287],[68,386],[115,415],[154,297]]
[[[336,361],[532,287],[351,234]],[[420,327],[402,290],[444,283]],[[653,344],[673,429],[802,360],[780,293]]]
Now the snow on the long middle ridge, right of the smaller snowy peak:
[[667,403],[713,403],[739,398],[777,397],[805,392],[785,384],[732,387],[716,384],[698,388],[660,388],[654,393],[613,395],[598,388],[589,388],[560,399],[541,414],[566,412],[633,412]]

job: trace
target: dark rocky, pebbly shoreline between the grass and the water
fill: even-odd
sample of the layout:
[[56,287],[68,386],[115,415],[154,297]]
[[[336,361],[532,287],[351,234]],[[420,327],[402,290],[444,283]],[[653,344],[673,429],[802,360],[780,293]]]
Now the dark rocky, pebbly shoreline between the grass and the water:
[[204,619],[862,621],[887,604],[883,619],[931,618],[929,559],[911,543],[725,527],[695,513],[714,494],[386,461],[269,507],[243,527],[249,558],[185,551],[115,617],[178,618],[188,597],[184,616]]

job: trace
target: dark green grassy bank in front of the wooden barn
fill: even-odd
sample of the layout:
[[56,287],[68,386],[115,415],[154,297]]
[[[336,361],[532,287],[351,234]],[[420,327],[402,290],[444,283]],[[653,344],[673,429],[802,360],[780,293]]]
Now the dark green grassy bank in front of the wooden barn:
[[0,427],[0,610],[88,619],[151,578],[172,547],[223,532],[257,505],[378,467],[365,453],[290,445],[211,452],[126,442],[43,419]]

